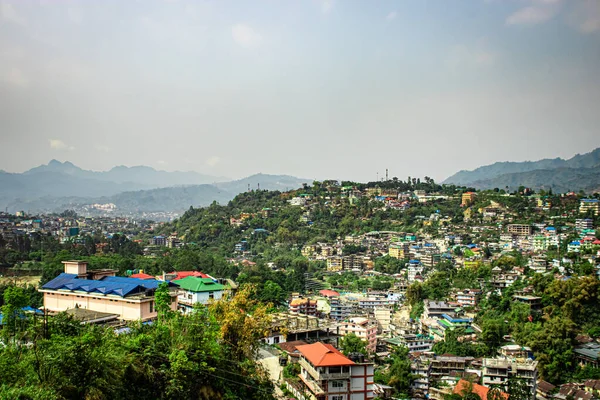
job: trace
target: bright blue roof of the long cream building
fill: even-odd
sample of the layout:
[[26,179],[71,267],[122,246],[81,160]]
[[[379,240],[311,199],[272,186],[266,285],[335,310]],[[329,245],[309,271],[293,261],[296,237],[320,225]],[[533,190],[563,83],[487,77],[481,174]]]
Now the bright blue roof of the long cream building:
[[[107,276],[101,280],[79,279],[75,274],[62,273],[42,286],[42,289],[72,290],[86,293],[112,294],[126,297],[142,293],[146,289],[156,289],[162,282],[155,279],[124,278]],[[169,283],[169,285],[172,285]]]

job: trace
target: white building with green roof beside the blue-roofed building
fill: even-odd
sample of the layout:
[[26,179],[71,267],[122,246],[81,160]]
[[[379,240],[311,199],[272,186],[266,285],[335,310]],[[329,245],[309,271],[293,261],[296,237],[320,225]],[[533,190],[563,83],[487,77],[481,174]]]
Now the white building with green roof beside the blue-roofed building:
[[191,312],[196,303],[207,304],[210,300],[219,300],[226,289],[224,285],[210,278],[197,276],[188,276],[173,283],[179,286],[177,303],[178,308],[184,313]]

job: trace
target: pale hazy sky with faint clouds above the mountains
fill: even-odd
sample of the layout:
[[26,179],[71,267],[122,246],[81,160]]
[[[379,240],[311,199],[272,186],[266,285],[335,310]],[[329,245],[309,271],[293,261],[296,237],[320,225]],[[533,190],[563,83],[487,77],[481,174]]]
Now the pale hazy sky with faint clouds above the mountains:
[[600,1],[0,0],[0,169],[373,180],[600,146]]

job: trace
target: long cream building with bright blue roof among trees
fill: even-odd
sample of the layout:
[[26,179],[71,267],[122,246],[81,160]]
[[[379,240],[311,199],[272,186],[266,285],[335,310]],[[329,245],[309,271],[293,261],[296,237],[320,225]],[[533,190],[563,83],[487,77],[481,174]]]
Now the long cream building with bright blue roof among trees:
[[[63,261],[65,272],[43,285],[44,308],[61,312],[83,308],[116,314],[127,321],[157,317],[154,291],[162,283],[156,279],[114,276],[114,270],[87,271],[84,261]],[[168,283],[171,309],[177,310],[177,288]]]

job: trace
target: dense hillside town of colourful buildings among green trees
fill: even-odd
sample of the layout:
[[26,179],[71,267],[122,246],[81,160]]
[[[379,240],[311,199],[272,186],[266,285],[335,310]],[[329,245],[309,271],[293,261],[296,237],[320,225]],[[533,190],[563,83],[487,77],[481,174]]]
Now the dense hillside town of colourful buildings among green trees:
[[[159,318],[160,290],[169,312],[189,316],[252,287],[270,305],[255,357],[281,398],[597,398],[598,198],[393,185],[250,191],[174,223],[5,213],[4,263],[29,258],[5,273],[43,270],[41,304],[24,310],[118,333]],[[203,236],[217,221],[220,234]],[[178,258],[202,260],[207,240],[218,262]],[[589,293],[555,356],[522,330],[543,332],[550,309],[573,307],[552,290]]]

